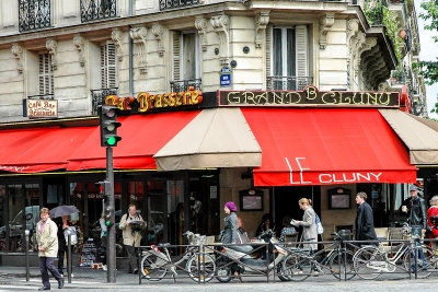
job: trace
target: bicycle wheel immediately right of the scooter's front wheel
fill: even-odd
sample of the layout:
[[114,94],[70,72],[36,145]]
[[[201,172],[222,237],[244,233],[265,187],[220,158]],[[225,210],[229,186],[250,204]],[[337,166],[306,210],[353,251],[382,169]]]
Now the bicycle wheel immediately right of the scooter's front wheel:
[[291,253],[283,261],[278,272],[281,281],[304,281],[312,272],[312,260],[306,254]]

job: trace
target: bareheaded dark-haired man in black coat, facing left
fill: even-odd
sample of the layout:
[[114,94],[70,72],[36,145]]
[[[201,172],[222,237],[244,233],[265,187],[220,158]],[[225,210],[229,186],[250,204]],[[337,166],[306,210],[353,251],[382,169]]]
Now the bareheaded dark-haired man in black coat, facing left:
[[376,241],[374,220],[372,209],[366,202],[367,194],[358,192],[356,196],[357,217],[356,217],[356,241]]

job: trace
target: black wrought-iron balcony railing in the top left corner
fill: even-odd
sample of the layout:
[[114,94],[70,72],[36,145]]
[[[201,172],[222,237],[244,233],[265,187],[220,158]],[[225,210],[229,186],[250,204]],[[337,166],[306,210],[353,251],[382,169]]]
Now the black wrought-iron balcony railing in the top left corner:
[[50,0],[19,0],[20,33],[50,26]]

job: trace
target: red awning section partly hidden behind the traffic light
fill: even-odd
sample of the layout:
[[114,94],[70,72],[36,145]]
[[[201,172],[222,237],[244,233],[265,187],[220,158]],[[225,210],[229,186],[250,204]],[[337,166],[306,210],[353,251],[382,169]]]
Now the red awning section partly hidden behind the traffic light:
[[[152,156],[198,114],[199,110],[194,110],[120,117],[118,135],[122,141],[114,148],[114,168],[155,170]],[[100,139],[100,129],[96,127],[70,155],[67,170],[105,168],[106,152]]]

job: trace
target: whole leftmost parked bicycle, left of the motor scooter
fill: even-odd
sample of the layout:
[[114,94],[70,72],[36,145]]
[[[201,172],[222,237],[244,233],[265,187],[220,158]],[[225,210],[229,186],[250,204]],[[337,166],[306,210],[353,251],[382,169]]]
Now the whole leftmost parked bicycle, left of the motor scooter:
[[[193,232],[183,234],[187,240],[196,245],[203,244],[203,236],[194,235]],[[150,281],[160,281],[168,272],[172,272],[173,280],[177,276],[177,269],[184,269],[195,282],[210,281],[216,273],[216,261],[207,253],[199,253],[199,246],[188,245],[180,258],[172,262],[168,247],[171,244],[161,244],[151,246],[150,249],[142,253],[140,261],[142,277]],[[161,250],[160,250],[161,249]],[[187,261],[185,268],[182,268],[184,261]]]

